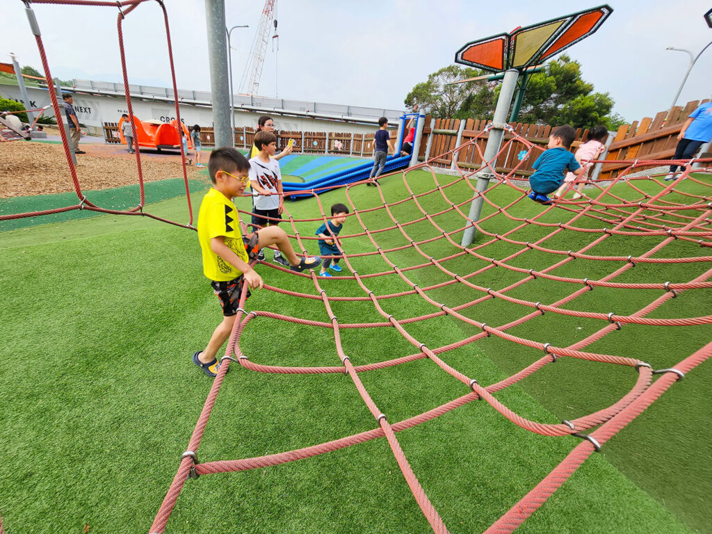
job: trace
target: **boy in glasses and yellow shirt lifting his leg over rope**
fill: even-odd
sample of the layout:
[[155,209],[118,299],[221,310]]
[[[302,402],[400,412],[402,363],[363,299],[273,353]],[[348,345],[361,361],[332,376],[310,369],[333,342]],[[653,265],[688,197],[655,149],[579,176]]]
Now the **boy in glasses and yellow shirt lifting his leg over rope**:
[[214,186],[206,193],[198,215],[198,241],[203,256],[203,273],[211,281],[213,293],[220,300],[223,321],[215,329],[204,350],[193,355],[193,362],[209,377],[220,369],[216,354],[229,337],[247,282],[250,289],[261,288],[261,276],[249,265],[260,248],[276,244],[289,261],[292,271],[301,272],[320,265],[321,259],[299,258],[286,232],[279,226],[268,226],[253,234],[242,234],[242,223],[232,201],[243,194],[248,184],[250,164],[243,155],[230,147],[222,147],[210,155],[208,172]]

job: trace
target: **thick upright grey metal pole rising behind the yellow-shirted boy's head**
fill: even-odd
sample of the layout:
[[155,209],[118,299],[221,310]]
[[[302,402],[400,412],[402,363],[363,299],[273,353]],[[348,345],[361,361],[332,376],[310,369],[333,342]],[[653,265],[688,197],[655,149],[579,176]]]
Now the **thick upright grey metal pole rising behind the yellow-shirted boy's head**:
[[234,136],[230,131],[225,0],[205,0],[205,19],[215,147],[231,147]]

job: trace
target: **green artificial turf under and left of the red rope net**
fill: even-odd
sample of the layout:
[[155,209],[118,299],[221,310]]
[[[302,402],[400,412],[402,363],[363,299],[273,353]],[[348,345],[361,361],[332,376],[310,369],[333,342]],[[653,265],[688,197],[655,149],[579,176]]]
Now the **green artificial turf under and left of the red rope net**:
[[[410,172],[415,192],[431,189],[424,172]],[[442,183],[450,177],[439,177]],[[654,184],[637,182],[654,189]],[[387,201],[407,197],[399,176],[382,180]],[[703,188],[692,182],[689,191]],[[622,185],[619,191],[629,192]],[[444,189],[451,201],[471,196],[464,184]],[[194,195],[197,211],[202,193]],[[359,209],[382,204],[377,188],[352,189]],[[489,198],[513,201],[498,187]],[[330,204],[346,201],[342,190],[320,196]],[[679,199],[673,199],[679,201]],[[449,207],[439,192],[419,199],[429,213]],[[248,209],[249,199],[239,207]],[[348,202],[347,202],[348,204]],[[173,220],[187,217],[182,198],[152,204],[150,212]],[[319,216],[313,199],[288,203],[295,218]],[[464,208],[466,211],[466,207]],[[528,200],[511,209],[533,217],[541,206]],[[483,214],[491,213],[488,206]],[[392,207],[402,223],[419,218],[412,201]],[[392,226],[383,210],[363,213],[371,231]],[[571,214],[553,210],[548,221]],[[449,231],[459,216],[436,216]],[[485,223],[503,234],[514,224],[503,215]],[[601,227],[580,219],[577,226]],[[313,236],[318,223],[299,223],[300,235]],[[288,226],[286,226],[288,229]],[[427,221],[402,226],[415,240],[439,234]],[[535,241],[553,229],[528,226],[515,239]],[[288,229],[290,231],[290,229]],[[355,218],[342,234],[360,232]],[[290,233],[292,233],[290,231]],[[399,230],[380,232],[382,248],[409,243]],[[454,239],[459,241],[459,235]],[[563,231],[546,246],[577,250],[594,234]],[[625,241],[623,241],[625,239]],[[477,236],[476,243],[485,241]],[[311,253],[315,241],[304,240]],[[659,238],[612,236],[590,253],[642,253]],[[367,237],[345,240],[347,253],[372,251]],[[422,246],[435,258],[455,253],[444,240]],[[504,258],[519,247],[503,243],[478,250]],[[704,249],[674,241],[659,256],[701,256]],[[268,257],[270,255],[268,254]],[[407,248],[387,253],[400,268],[425,260]],[[556,259],[560,259],[557,257]],[[0,234],[0,514],[7,534],[148,532],[187,448],[210,387],[210,379],[190,363],[220,320],[220,310],[202,276],[194,231],[142,217],[100,216],[17,229]],[[528,251],[510,263],[540,269],[552,255]],[[377,256],[352,260],[360,275],[387,271]],[[343,265],[343,263],[342,263]],[[486,266],[474,258],[443,265],[464,276]],[[561,276],[600,278],[620,263],[575,260],[557,269]],[[616,281],[689,281],[700,263],[638,265]],[[258,267],[266,283],[316,294],[307,278],[269,266]],[[434,267],[406,271],[413,283],[429,286],[448,278]],[[472,281],[500,289],[520,280],[496,267]],[[408,290],[397,275],[365,278],[376,295]],[[355,281],[320,280],[328,295],[363,296]],[[572,293],[572,284],[538,279],[511,295],[552,303]],[[634,313],[660,291],[596,288],[569,303],[570,309]],[[454,306],[481,293],[447,286],[429,292]],[[690,290],[671,299],[651,317],[706,315],[710,292]],[[437,311],[407,295],[380,300],[395,318]],[[370,302],[331,303],[340,324],[382,322]],[[247,308],[328,322],[318,300],[268,290],[255,291]],[[525,315],[520,305],[488,300],[463,310],[476,320],[501,325]],[[451,317],[405,325],[430,348],[478,330]],[[602,328],[601,321],[554,313],[508,330],[513,335],[567,346]],[[654,368],[674,365],[704,345],[705,327],[624,325],[587,347],[590,352],[639,357]],[[354,365],[418,352],[394,328],[340,330],[342,347]],[[269,318],[251,321],[241,350],[253,362],[273,365],[340,365],[333,331]],[[538,360],[541,351],[488,337],[441,354],[449,365],[491,384]],[[525,521],[523,533],[687,533],[708,532],[712,523],[709,484],[711,431],[706,426],[712,386],[710,364],[674,384],[648,411],[594,454],[557,493]],[[556,423],[608,406],[634,384],[629,367],[562,358],[496,397],[523,417]],[[465,394],[468,389],[430,360],[364,372],[362,382],[392,424]],[[200,461],[238,459],[319,444],[375,428],[374,417],[350,377],[266,375],[231,365],[198,450]],[[486,402],[472,402],[444,416],[397,434],[426,494],[453,533],[480,532],[535,486],[579,442],[545,437],[513,425]],[[431,531],[399,471],[385,439],[311,459],[241,473],[221,473],[187,481],[167,533],[426,533]]]

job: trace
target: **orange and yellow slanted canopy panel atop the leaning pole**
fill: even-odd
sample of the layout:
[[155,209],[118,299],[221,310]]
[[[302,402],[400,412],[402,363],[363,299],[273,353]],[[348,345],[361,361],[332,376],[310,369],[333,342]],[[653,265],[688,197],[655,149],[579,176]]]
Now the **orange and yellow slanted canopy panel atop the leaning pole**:
[[472,41],[455,53],[455,63],[491,72],[509,68],[521,71],[590,36],[612,12],[610,6],[598,6]]

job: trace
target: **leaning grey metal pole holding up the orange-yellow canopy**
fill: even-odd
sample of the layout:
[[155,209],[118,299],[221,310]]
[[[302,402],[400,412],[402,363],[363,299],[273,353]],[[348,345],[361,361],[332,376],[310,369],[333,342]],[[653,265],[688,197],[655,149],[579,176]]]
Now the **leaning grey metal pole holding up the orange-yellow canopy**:
[[[487,167],[487,163],[492,159],[495,159],[497,152],[499,152],[499,147],[502,145],[502,140],[504,138],[504,126],[506,125],[504,121],[507,119],[514,90],[517,88],[518,77],[518,71],[513,68],[504,73],[502,89],[499,93],[499,98],[497,99],[497,107],[494,110],[494,117],[492,121],[493,127],[489,131],[489,137],[487,138],[487,145],[485,146],[482,166],[477,172],[476,193],[475,197],[472,199],[470,213],[468,214],[468,217],[473,222],[480,220],[483,203],[482,193],[486,191],[489,186],[490,178],[492,177],[490,169]],[[493,161],[492,165],[496,165],[496,161]],[[469,246],[472,244],[472,241],[475,239],[475,231],[476,229],[474,224],[465,229],[462,236],[462,246]]]

